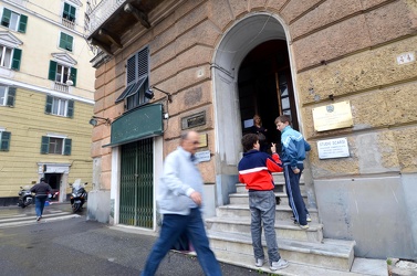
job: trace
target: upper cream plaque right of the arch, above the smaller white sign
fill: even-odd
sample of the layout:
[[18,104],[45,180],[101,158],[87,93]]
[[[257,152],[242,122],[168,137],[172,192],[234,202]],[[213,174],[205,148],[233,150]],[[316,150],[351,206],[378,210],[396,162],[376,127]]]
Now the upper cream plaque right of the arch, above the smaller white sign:
[[352,127],[351,102],[345,100],[313,108],[313,121],[316,131]]

